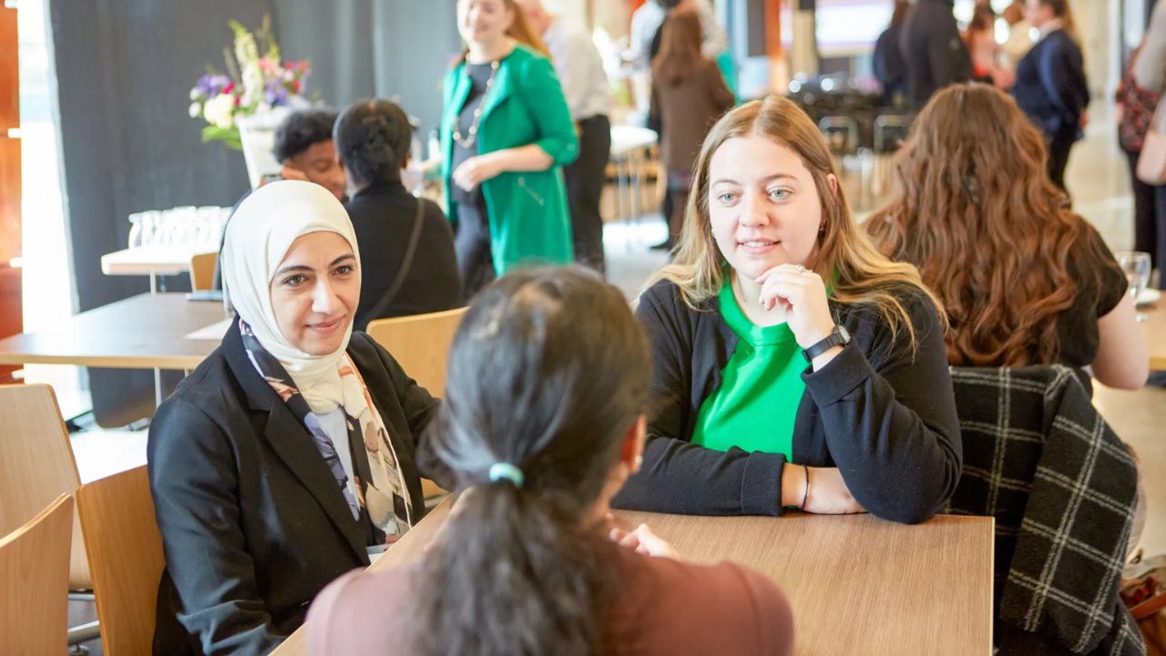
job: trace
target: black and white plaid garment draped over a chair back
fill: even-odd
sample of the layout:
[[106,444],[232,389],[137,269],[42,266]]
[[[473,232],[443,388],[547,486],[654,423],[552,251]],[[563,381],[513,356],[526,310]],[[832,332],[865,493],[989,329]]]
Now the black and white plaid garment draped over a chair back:
[[953,368],[951,381],[963,475],[947,511],[996,518],[999,652],[1145,654],[1117,595],[1137,468],[1074,370]]

